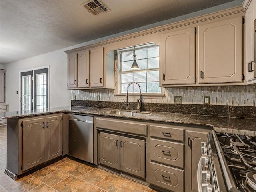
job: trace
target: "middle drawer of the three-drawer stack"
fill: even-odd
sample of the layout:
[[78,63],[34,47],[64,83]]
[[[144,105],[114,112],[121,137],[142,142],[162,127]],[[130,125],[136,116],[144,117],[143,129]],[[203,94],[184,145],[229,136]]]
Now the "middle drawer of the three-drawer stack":
[[183,168],[184,144],[150,139],[150,159]]

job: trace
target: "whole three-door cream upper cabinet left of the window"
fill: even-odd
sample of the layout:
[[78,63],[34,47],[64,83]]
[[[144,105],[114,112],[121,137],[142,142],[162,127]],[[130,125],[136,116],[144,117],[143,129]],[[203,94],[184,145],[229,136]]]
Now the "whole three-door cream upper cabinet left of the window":
[[114,88],[114,51],[98,47],[68,54],[68,88]]

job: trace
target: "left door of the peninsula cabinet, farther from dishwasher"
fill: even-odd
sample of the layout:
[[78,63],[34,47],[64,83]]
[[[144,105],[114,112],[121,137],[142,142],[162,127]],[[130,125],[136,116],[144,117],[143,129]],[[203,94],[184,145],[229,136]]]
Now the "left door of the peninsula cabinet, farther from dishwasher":
[[45,162],[44,118],[23,121],[23,172]]

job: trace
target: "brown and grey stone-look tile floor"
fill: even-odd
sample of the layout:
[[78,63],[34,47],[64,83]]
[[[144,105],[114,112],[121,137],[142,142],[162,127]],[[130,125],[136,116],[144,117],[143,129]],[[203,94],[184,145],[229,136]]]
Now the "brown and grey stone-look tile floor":
[[14,181],[6,168],[6,126],[0,126],[0,192],[155,192],[68,157]]

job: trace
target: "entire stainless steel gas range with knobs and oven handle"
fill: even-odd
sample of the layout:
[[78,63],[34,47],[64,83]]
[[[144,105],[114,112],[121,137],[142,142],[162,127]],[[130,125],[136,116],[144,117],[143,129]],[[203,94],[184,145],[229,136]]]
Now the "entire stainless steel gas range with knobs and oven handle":
[[198,177],[200,192],[256,192],[256,138],[209,133],[202,143]]

